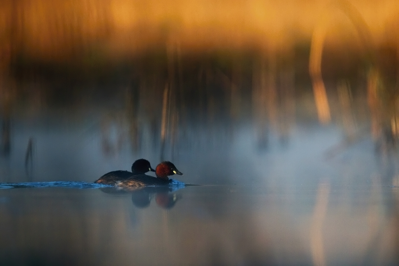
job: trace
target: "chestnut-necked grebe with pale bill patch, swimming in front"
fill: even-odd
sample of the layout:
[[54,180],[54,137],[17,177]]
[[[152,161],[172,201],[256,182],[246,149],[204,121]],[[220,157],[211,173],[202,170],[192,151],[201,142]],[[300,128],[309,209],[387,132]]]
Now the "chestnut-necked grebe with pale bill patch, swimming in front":
[[170,175],[183,175],[176,169],[173,163],[165,161],[157,165],[155,169],[157,178],[150,177],[148,175],[133,175],[126,180],[115,183],[120,187],[142,187],[142,186],[153,186],[153,185],[168,185],[172,182],[169,179]]

